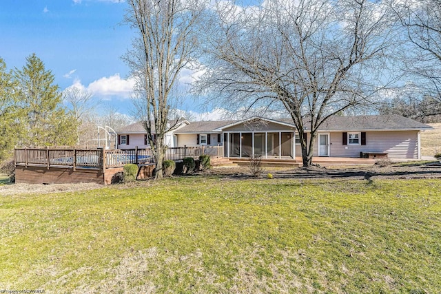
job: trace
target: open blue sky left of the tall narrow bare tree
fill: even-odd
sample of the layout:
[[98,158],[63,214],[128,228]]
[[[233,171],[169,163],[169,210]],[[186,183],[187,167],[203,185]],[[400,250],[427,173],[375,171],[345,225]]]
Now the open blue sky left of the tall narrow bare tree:
[[126,8],[119,0],[0,0],[0,56],[12,69],[35,53],[61,90],[83,87],[130,114],[129,70],[121,60],[133,35],[123,23]]

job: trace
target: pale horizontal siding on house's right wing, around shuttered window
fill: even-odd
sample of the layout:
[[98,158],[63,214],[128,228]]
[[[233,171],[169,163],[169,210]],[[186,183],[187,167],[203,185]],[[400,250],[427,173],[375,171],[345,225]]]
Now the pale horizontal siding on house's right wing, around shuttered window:
[[[360,157],[360,151],[372,151],[387,152],[390,158],[418,158],[418,131],[367,132],[366,145],[342,145],[342,133],[333,132],[330,143],[334,157]],[[314,146],[314,155],[316,150]]]

